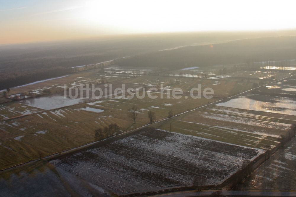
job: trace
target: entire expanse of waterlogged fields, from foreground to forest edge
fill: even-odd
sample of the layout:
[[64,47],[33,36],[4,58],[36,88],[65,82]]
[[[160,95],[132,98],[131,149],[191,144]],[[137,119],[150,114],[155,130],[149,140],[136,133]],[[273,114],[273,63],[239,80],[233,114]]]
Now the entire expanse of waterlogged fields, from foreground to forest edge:
[[[44,161],[41,164],[44,173],[33,170],[34,178],[25,176],[28,174],[26,169],[22,169],[19,175],[14,170],[3,175],[0,173],[0,183],[13,188],[11,181],[39,185],[52,180],[54,184],[49,184],[48,188],[62,183],[59,189],[65,196],[72,195],[69,188],[81,195],[100,193],[108,196],[112,193],[127,194],[190,186],[197,175],[202,177],[204,185],[221,184],[237,172],[243,163],[249,163],[265,151],[280,146],[282,136],[287,136],[291,124],[296,123],[295,98],[253,92],[181,114],[250,90],[260,83],[261,78],[282,78],[291,74],[240,70],[225,74],[229,77],[220,77],[217,73],[223,68],[215,66],[200,70],[192,67],[170,73],[149,68],[135,70],[111,66],[23,87],[23,90],[35,94],[44,89],[50,89],[51,93],[1,104],[0,169],[94,142],[94,131],[113,123],[120,127],[120,133],[148,125],[149,110],[155,112],[155,121],[158,122],[152,124],[152,128],[111,139],[110,143],[102,142],[49,163]],[[187,73],[188,76],[178,76],[179,72]],[[198,77],[189,77],[190,73]],[[208,75],[213,75],[213,78]],[[293,79],[273,86],[292,95],[296,91],[295,85],[291,84]],[[96,87],[103,89],[106,82],[112,83],[114,89],[123,83],[126,88],[145,87],[146,95],[149,93],[158,98],[146,96],[143,99],[128,99],[112,95],[107,99],[94,100],[63,98],[63,83],[67,87],[95,83]],[[191,98],[189,91],[198,87],[198,84],[201,84],[202,90],[212,88],[215,92],[213,98]],[[147,89],[151,87],[159,90],[148,92]],[[172,90],[175,88],[183,90],[181,99],[173,98]],[[19,90],[12,89],[12,93],[19,93]],[[168,95],[170,98],[167,98]],[[127,115],[132,106],[139,108],[136,123]],[[181,115],[168,118],[169,111]],[[103,134],[102,138],[107,138],[107,135]],[[285,155],[288,154],[291,157],[295,155],[291,151]],[[281,161],[282,158],[277,160]],[[290,166],[290,163],[287,165]],[[290,169],[286,168],[282,164],[279,169],[284,172],[279,173],[287,173]],[[294,173],[293,170],[291,172]],[[37,183],[38,177],[42,177],[45,182]],[[270,179],[274,181],[274,177]],[[74,180],[76,189],[69,186],[74,184]],[[42,193],[44,188],[37,190]],[[6,189],[0,189],[0,194],[7,192]]]

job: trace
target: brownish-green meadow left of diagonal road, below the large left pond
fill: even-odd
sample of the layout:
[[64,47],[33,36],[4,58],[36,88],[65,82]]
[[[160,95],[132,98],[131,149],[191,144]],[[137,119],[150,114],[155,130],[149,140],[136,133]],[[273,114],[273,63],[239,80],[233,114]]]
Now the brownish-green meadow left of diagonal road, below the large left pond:
[[[6,156],[0,158],[0,164],[5,168],[93,142],[95,141],[94,130],[112,123],[117,123],[122,132],[132,130],[149,123],[147,118],[149,110],[155,112],[156,120],[159,120],[168,117],[169,110],[173,113],[181,113],[184,109],[196,108],[209,102],[205,98],[173,99],[171,96],[172,99],[160,99],[160,93],[151,92],[150,94],[157,95],[159,98],[150,100],[148,97],[144,99],[115,97],[56,110],[44,111],[36,108],[41,112],[36,110],[37,112],[30,116],[0,122],[2,131],[0,149]],[[49,102],[49,104],[52,103]],[[15,105],[25,106],[24,104]],[[133,124],[127,116],[132,106],[141,106],[136,124]],[[44,133],[37,133],[41,131]],[[20,160],[13,162],[15,157]]]

